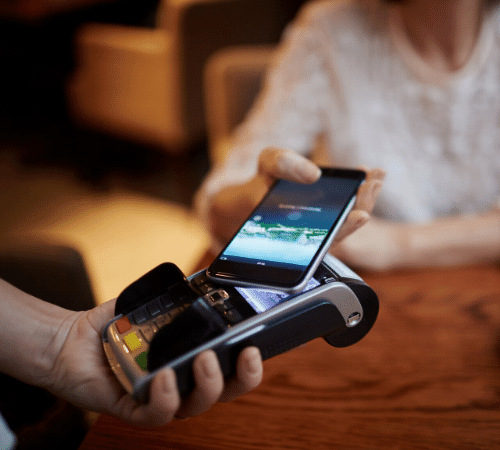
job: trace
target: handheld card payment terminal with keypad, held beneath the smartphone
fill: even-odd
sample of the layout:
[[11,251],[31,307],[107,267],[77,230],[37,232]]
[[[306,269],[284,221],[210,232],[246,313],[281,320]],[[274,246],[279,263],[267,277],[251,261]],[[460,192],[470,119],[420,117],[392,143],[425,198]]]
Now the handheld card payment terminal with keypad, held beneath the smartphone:
[[221,285],[205,270],[185,278],[165,263],[125,289],[116,308],[103,331],[104,350],[124,388],[147,402],[163,367],[175,370],[180,393],[188,394],[193,360],[207,349],[230,377],[250,345],[263,359],[320,336],[335,347],[352,345],[373,326],[379,303],[357,274],[327,255],[297,294]]

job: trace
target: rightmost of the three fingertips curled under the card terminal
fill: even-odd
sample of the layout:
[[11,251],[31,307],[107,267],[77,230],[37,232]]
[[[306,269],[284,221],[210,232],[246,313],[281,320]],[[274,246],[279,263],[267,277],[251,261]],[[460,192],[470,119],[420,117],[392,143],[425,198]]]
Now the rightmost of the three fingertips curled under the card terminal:
[[229,402],[255,389],[262,381],[262,357],[257,347],[247,347],[238,356],[236,376],[227,381],[220,401]]

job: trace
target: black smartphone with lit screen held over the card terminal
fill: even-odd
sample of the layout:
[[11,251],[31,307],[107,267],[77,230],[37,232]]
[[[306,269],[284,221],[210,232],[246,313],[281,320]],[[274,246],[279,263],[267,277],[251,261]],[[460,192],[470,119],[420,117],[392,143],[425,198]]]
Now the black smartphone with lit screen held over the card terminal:
[[207,269],[223,284],[300,292],[356,202],[365,172],[322,168],[312,184],[276,181]]

